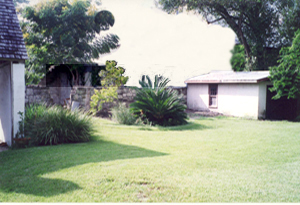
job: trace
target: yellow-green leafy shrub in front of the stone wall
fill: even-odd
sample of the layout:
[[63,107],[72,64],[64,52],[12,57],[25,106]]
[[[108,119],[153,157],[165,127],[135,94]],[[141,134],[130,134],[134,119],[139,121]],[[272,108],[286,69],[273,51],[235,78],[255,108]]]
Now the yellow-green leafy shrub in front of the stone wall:
[[123,76],[125,69],[117,66],[116,61],[106,61],[105,70],[101,70],[99,76],[101,77],[101,90],[94,90],[91,97],[91,112],[96,113],[102,109],[103,103],[113,102],[118,98],[118,87],[125,85],[128,77]]

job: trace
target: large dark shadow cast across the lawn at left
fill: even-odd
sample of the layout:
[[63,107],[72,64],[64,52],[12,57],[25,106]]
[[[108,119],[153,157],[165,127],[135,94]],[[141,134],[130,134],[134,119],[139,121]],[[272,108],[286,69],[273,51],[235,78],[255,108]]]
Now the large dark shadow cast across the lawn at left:
[[[0,153],[0,192],[55,196],[81,187],[72,181],[42,175],[87,163],[164,155],[166,154],[136,146],[94,140],[88,143],[10,150]],[[76,169],[72,172],[76,172]],[[77,176],[82,174],[79,172]]]

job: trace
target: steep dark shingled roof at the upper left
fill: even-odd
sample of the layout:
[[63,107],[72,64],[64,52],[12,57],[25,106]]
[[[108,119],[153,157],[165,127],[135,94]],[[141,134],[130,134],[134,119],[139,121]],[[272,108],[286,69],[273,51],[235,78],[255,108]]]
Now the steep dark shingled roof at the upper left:
[[0,0],[0,59],[28,59],[13,0]]

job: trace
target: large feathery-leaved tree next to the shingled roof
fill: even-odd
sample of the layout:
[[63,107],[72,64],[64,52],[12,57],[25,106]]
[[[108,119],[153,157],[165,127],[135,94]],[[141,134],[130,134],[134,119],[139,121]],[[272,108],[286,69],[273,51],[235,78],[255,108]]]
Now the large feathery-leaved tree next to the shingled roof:
[[[37,81],[45,73],[46,64],[91,63],[100,54],[119,47],[114,34],[100,37],[100,32],[114,25],[109,11],[96,11],[88,0],[52,0],[26,7],[22,11],[21,28],[29,59],[27,77]],[[70,67],[73,80],[76,69]],[[30,79],[26,79],[27,82]]]

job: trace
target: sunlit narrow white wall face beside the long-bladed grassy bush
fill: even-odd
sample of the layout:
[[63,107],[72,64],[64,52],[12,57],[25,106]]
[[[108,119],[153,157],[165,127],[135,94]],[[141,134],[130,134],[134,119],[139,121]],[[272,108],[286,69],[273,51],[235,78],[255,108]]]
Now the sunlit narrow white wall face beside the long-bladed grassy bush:
[[12,115],[13,115],[13,137],[19,130],[18,122],[20,115],[18,112],[24,113],[25,107],[25,65],[23,63],[12,64]]

